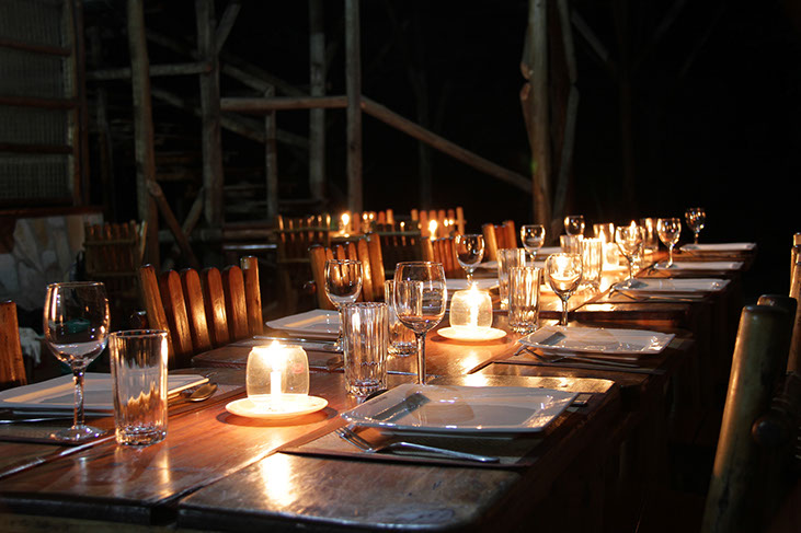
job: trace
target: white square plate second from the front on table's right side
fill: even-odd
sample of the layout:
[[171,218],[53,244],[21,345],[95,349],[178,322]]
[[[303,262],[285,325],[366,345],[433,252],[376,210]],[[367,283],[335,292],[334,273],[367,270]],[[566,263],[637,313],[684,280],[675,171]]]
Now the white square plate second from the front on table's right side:
[[645,329],[542,326],[519,343],[548,352],[646,355],[664,350],[674,336]]

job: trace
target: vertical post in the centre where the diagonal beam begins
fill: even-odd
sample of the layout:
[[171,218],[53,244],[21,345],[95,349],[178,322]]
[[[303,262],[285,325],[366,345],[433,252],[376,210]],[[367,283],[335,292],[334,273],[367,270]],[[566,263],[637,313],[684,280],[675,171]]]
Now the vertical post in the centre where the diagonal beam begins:
[[359,0],[345,0],[345,86],[347,94],[347,208],[362,211],[362,62]]

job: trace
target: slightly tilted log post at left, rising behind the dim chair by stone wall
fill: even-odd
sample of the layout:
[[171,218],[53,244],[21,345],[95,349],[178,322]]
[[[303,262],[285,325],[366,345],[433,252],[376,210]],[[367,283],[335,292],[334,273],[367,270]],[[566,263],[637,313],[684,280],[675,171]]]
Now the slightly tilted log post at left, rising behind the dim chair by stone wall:
[[130,85],[134,96],[134,149],[136,159],[136,198],[139,220],[147,222],[145,262],[159,264],[159,218],[148,184],[156,182],[153,117],[150,104],[150,61],[145,37],[145,12],[141,0],[128,0],[128,48]]

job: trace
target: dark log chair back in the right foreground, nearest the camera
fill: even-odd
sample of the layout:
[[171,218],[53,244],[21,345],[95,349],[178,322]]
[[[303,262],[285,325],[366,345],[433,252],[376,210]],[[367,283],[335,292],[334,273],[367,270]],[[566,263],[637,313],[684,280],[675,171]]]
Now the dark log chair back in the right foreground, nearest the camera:
[[755,441],[783,376],[792,315],[779,305],[743,309],[701,531],[762,531],[766,478],[780,457]]

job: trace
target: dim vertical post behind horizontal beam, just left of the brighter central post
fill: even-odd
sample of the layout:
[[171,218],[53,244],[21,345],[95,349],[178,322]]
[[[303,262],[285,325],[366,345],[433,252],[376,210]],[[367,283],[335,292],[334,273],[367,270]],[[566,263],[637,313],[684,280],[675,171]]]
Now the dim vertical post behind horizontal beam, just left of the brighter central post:
[[[325,27],[322,0],[309,0],[309,85],[312,96],[325,94]],[[325,109],[309,112],[309,190],[325,198]]]

